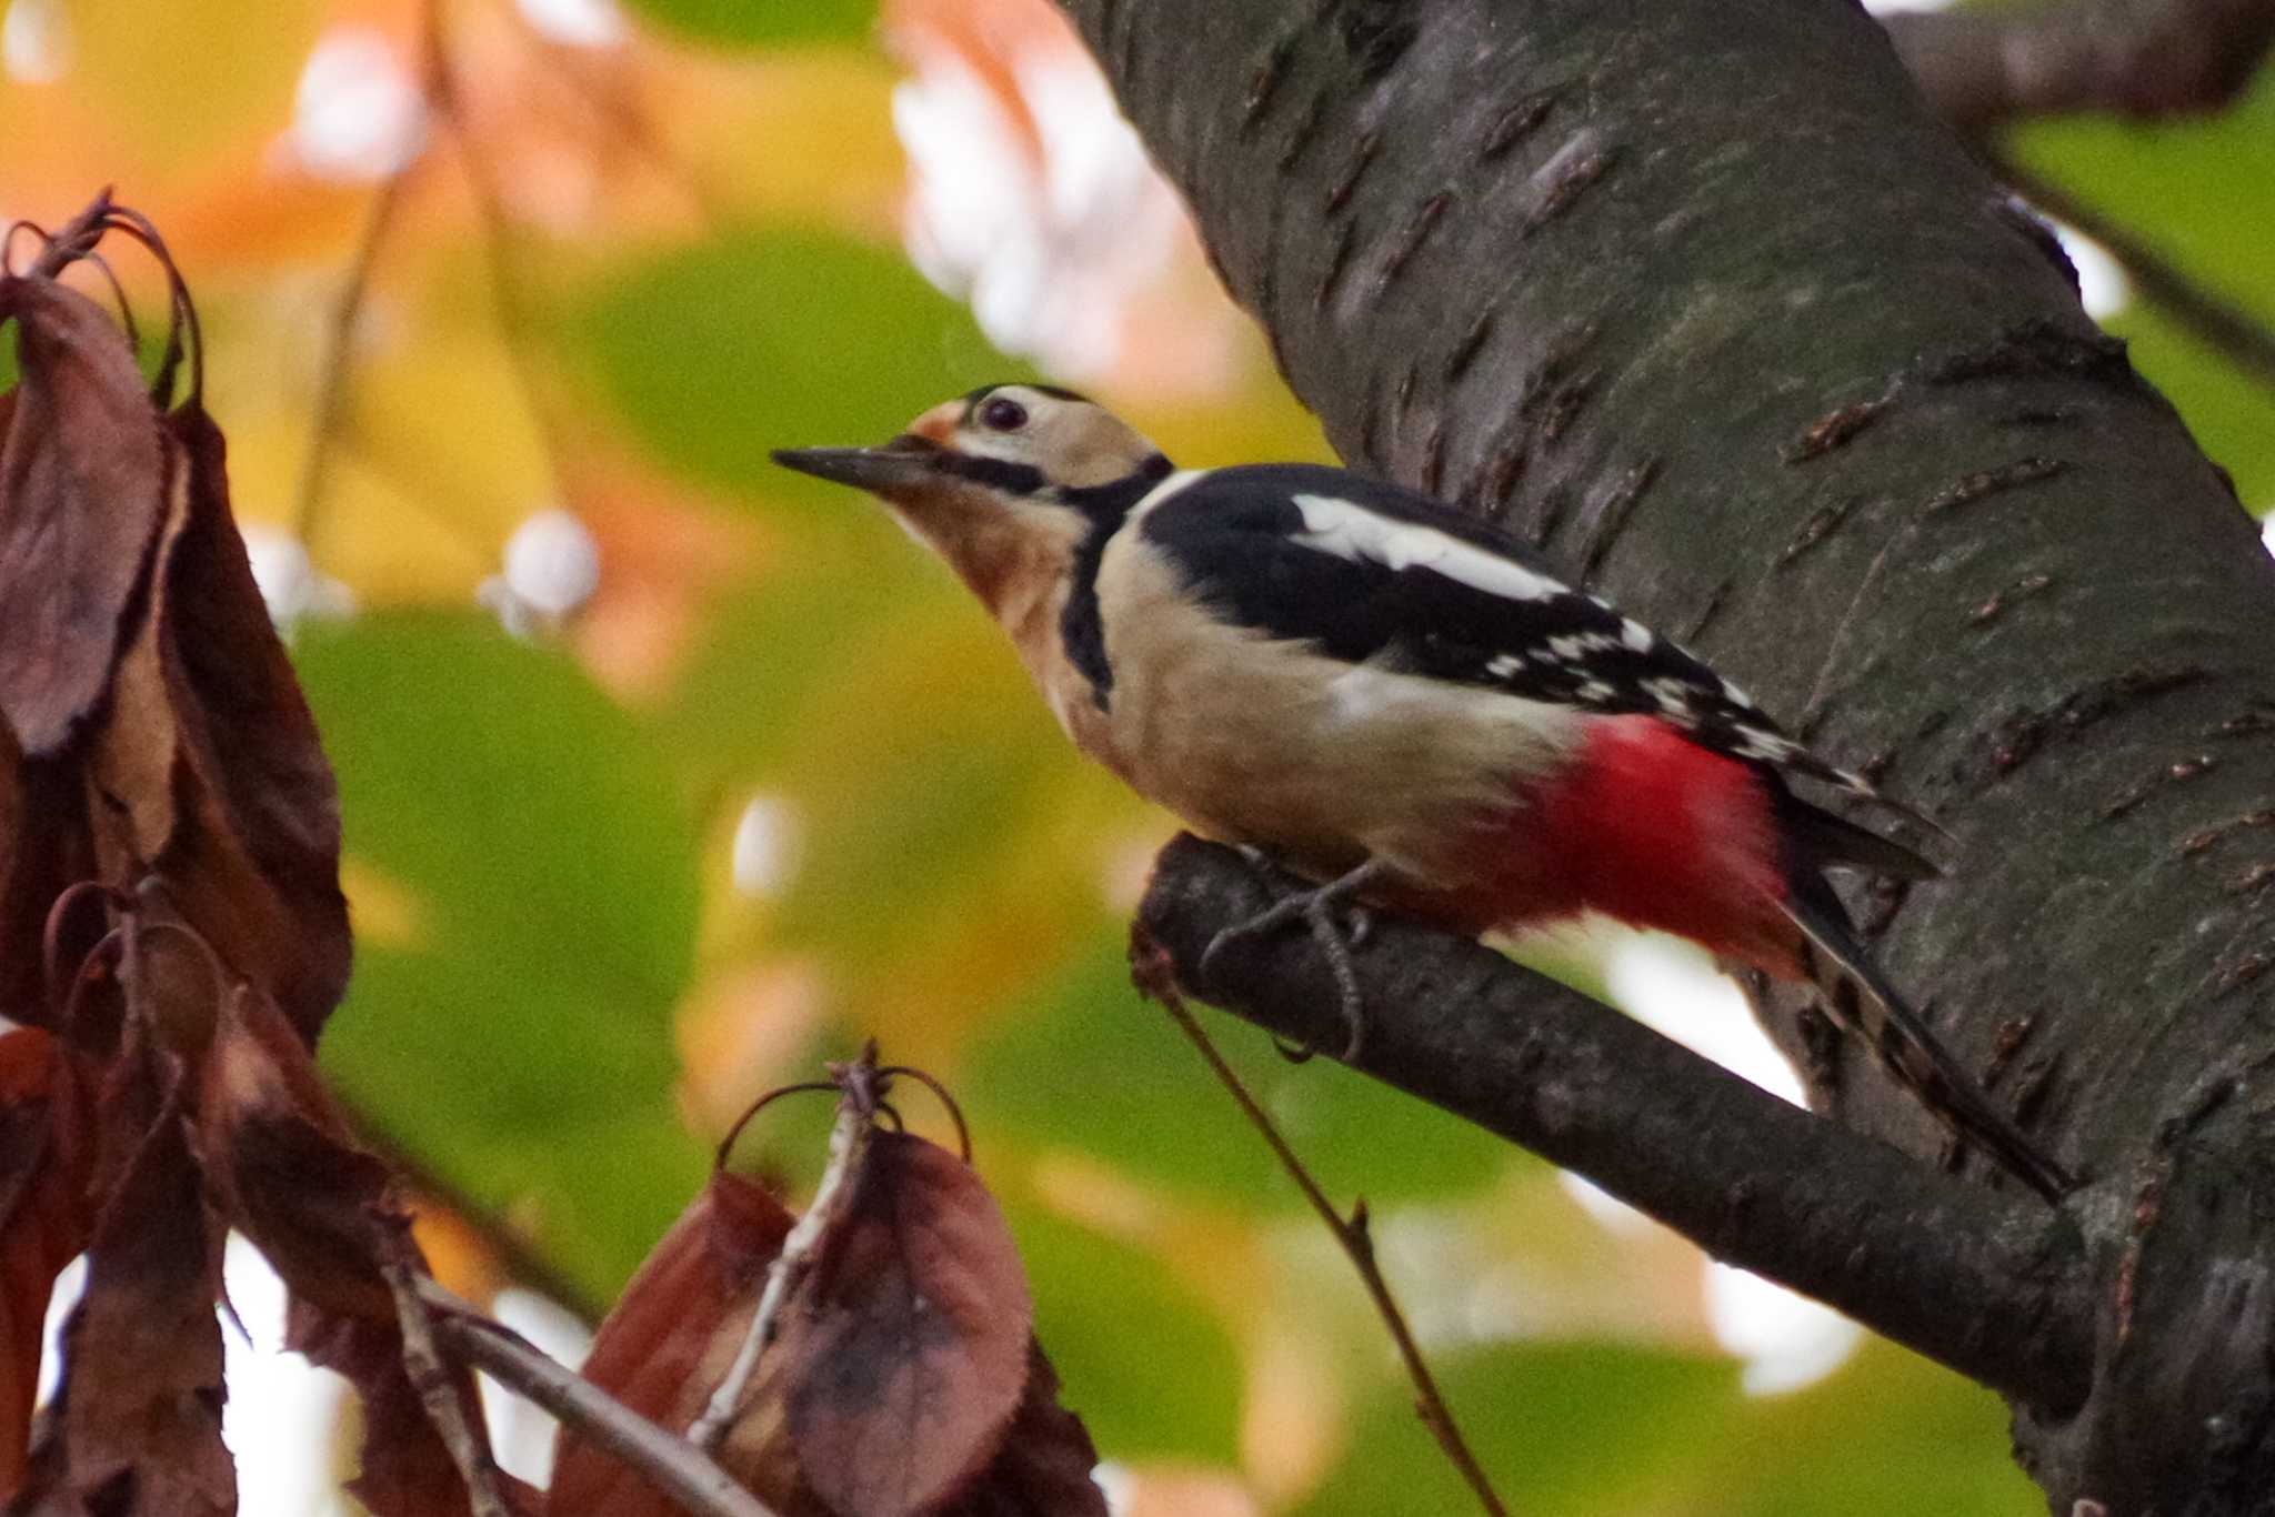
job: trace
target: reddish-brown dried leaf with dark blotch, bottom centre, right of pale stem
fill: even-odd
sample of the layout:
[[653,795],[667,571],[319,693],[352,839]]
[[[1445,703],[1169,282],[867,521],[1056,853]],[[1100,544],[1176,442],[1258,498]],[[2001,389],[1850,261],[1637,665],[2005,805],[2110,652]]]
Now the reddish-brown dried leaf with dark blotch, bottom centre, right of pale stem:
[[1035,1312],[1003,1215],[960,1158],[874,1133],[849,1185],[776,1374],[812,1490],[839,1517],[915,1517],[1003,1444]]

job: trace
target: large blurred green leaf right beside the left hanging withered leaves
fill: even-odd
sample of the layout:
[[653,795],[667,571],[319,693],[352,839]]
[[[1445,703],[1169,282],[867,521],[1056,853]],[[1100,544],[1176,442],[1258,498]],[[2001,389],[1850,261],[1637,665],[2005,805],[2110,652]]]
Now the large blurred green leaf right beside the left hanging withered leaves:
[[573,662],[475,616],[316,623],[296,653],[350,871],[389,896],[357,903],[323,1062],[605,1301],[705,1169],[673,1108],[696,873],[662,755]]

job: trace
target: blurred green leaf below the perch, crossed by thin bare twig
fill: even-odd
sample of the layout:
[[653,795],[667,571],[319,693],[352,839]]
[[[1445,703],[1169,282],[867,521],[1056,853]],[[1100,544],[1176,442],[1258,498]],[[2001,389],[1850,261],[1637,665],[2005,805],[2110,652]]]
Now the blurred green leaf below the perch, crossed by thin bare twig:
[[[1233,1019],[1206,1026],[1331,1196],[1363,1194],[1376,1208],[1445,1201],[1524,1162],[1379,1080],[1331,1060],[1290,1064]],[[1210,1201],[1304,1208],[1183,1033],[1131,987],[1119,923],[990,1028],[958,1089],[976,1121],[1033,1144],[1078,1149]]]

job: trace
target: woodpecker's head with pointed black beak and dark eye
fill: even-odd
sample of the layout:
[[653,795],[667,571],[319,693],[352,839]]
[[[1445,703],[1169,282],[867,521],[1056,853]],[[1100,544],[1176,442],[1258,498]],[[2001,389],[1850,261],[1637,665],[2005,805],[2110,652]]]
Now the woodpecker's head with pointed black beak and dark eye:
[[778,448],[774,462],[878,496],[999,614],[1169,475],[1112,412],[1049,384],[990,384],[878,448]]

